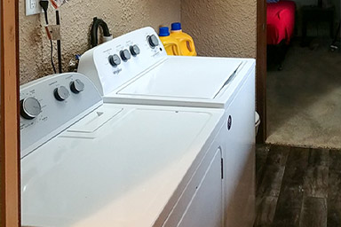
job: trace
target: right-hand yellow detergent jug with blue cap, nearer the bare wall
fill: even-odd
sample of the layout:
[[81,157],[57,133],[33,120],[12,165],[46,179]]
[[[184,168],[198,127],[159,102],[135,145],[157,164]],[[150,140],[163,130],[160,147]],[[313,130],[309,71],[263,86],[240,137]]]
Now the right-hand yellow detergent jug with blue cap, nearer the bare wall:
[[171,24],[171,37],[178,40],[181,55],[196,56],[193,38],[182,31],[181,23],[177,22]]

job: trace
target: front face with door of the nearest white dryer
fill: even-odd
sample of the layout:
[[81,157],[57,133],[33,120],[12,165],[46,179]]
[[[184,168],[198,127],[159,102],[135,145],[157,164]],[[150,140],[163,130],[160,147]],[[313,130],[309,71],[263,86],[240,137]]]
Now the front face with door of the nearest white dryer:
[[[219,137],[210,146],[210,152],[186,185],[186,189],[172,208],[163,227],[178,226],[179,223],[187,226],[201,226],[198,223],[205,227],[223,226],[224,178],[221,159],[224,152],[219,144],[222,141],[224,137]],[[204,196],[201,196],[202,194]],[[189,210],[194,212],[188,212]],[[186,222],[183,221],[184,218]]]

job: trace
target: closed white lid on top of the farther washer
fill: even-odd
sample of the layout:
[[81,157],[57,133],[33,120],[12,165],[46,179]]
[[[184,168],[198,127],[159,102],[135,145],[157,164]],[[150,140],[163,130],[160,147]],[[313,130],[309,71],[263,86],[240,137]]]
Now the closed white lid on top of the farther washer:
[[213,99],[241,65],[239,59],[169,58],[117,94]]

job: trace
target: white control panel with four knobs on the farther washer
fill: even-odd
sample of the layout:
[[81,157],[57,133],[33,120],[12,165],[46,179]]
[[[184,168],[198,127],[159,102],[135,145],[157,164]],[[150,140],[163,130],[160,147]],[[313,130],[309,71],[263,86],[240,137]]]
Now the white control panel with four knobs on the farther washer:
[[155,30],[144,27],[86,51],[78,72],[88,76],[101,95],[107,95],[166,57]]

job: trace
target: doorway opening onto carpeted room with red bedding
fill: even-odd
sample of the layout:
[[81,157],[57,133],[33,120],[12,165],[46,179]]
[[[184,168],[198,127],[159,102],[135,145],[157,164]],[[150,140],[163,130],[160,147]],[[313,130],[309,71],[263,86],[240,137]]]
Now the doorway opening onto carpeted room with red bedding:
[[266,142],[340,149],[340,1],[266,2]]

